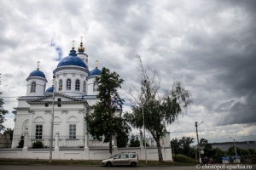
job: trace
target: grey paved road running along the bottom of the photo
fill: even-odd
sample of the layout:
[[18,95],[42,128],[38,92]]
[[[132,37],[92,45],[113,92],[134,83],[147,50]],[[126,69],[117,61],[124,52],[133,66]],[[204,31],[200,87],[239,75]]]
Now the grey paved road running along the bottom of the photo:
[[[220,165],[221,166],[221,165]],[[230,165],[232,166],[232,165]],[[243,165],[241,165],[243,166]],[[197,169],[217,169],[217,168],[196,168],[195,166],[187,166],[187,167],[99,167],[99,166],[26,166],[26,165],[0,165],[0,170],[130,170],[130,169],[137,169],[137,170],[197,170]],[[230,168],[219,168],[220,169],[230,169]],[[236,170],[244,170],[244,169],[256,169],[256,165],[252,165],[252,168],[231,168]]]

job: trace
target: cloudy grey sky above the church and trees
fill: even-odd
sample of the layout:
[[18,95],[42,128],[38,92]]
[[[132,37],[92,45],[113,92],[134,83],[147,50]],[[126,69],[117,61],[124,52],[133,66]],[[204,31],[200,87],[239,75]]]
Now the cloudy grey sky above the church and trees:
[[[89,68],[108,67],[139,86],[137,59],[159,71],[161,88],[173,80],[193,95],[193,105],[170,125],[172,138],[210,142],[256,140],[255,1],[1,0],[0,92],[14,111],[26,94],[26,77],[40,70],[51,86],[52,71],[84,37]],[[126,110],[129,107],[126,106]],[[14,127],[14,115],[6,127]]]

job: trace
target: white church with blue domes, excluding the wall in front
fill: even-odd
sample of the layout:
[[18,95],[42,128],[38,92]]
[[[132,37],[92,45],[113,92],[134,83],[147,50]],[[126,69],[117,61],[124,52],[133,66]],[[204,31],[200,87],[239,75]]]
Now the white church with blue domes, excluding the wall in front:
[[[54,111],[53,132],[58,130],[60,133],[60,147],[84,147],[84,117],[90,114],[90,106],[98,101],[96,77],[100,77],[101,72],[97,67],[89,71],[83,42],[79,53],[72,48],[70,54],[56,66],[53,71],[54,86],[45,90],[48,81],[44,72],[39,68],[32,71],[26,78],[26,96],[18,99],[15,108],[14,136],[24,135],[27,131],[30,136],[28,147],[38,139],[49,147],[51,113]],[[89,139],[91,146],[108,145],[93,137]],[[15,139],[12,148],[17,144]]]

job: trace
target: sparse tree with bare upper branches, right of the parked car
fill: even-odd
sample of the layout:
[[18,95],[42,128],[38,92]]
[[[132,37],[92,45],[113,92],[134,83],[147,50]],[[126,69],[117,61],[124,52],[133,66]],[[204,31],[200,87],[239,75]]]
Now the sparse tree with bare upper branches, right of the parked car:
[[131,86],[131,113],[125,113],[125,119],[132,127],[143,127],[151,133],[158,148],[159,161],[163,161],[160,139],[165,136],[166,125],[171,124],[177,116],[191,104],[191,94],[182,88],[180,82],[174,82],[172,89],[160,94],[160,77],[156,70],[144,67],[138,56],[137,74],[141,78],[142,88]]

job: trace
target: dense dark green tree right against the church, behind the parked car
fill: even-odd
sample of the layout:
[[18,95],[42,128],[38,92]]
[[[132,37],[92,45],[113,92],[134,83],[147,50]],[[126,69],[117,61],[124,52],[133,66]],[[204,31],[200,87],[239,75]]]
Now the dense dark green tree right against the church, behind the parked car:
[[113,136],[122,137],[122,134],[129,133],[131,127],[125,122],[121,116],[122,105],[124,99],[119,97],[118,88],[121,88],[123,79],[119,78],[116,72],[110,72],[108,68],[102,68],[101,77],[96,77],[98,82],[97,98],[100,99],[93,106],[94,112],[85,117],[88,131],[96,139],[104,143],[109,142],[109,154],[112,155],[112,139]]

